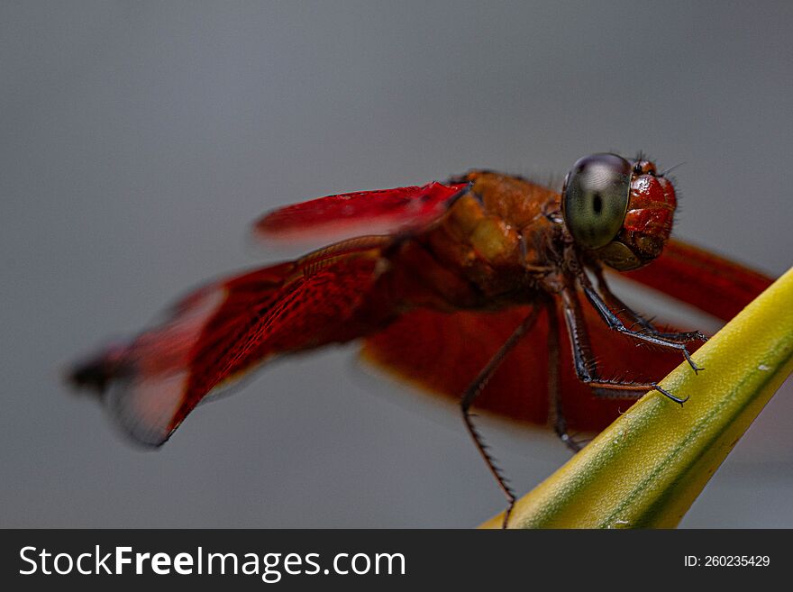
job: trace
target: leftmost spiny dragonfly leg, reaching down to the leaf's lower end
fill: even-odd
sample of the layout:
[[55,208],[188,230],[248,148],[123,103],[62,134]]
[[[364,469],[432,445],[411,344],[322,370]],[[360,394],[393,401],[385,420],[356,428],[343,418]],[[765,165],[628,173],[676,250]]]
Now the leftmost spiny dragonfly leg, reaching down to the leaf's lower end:
[[501,365],[501,362],[504,361],[506,354],[509,353],[509,351],[515,347],[515,344],[520,341],[524,334],[533,327],[533,324],[536,323],[537,317],[541,312],[542,307],[540,306],[535,306],[532,309],[532,312],[524,319],[522,323],[517,326],[512,335],[509,336],[509,339],[504,342],[504,345],[502,345],[488,361],[485,368],[481,369],[477,378],[474,378],[473,382],[466,389],[465,393],[463,393],[462,398],[460,399],[462,421],[465,423],[465,427],[468,429],[468,433],[471,439],[474,441],[479,454],[482,455],[482,458],[485,460],[485,464],[488,465],[490,473],[492,473],[493,477],[496,478],[498,487],[501,488],[501,490],[504,492],[504,495],[506,496],[507,507],[506,512],[504,513],[504,523],[502,524],[504,528],[506,528],[509,515],[512,513],[512,508],[515,505],[515,492],[512,490],[512,487],[509,487],[508,480],[504,477],[501,469],[498,468],[496,460],[493,458],[490,452],[488,452],[488,446],[485,444],[482,436],[479,434],[479,431],[473,423],[470,407],[473,405],[474,399],[479,396],[479,393],[481,393],[482,389],[488,384],[488,380],[496,372],[498,367]]

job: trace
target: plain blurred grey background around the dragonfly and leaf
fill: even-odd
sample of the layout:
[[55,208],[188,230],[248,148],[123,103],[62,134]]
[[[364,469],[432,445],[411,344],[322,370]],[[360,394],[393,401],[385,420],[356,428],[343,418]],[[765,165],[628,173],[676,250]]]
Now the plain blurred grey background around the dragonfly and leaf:
[[[453,408],[355,348],[279,363],[127,445],[60,383],[329,193],[579,156],[679,162],[677,235],[791,264],[790,3],[0,5],[0,525],[467,527],[504,501]],[[652,312],[652,311],[650,311]],[[684,519],[793,526],[793,387]],[[520,491],[568,458],[487,425]]]

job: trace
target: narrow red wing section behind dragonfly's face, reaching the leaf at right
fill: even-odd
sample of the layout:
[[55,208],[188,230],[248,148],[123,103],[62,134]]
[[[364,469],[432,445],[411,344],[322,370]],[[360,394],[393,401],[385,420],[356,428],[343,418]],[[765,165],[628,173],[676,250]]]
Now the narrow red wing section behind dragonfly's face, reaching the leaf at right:
[[729,321],[773,279],[706,250],[669,241],[661,257],[621,277],[652,287]]

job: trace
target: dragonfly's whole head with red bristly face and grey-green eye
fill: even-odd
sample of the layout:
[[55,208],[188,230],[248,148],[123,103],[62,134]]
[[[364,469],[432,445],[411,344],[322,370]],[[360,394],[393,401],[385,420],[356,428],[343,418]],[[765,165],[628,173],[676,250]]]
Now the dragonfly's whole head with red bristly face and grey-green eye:
[[675,213],[675,189],[649,160],[610,153],[579,159],[564,180],[561,213],[582,249],[609,267],[640,268],[661,254]]

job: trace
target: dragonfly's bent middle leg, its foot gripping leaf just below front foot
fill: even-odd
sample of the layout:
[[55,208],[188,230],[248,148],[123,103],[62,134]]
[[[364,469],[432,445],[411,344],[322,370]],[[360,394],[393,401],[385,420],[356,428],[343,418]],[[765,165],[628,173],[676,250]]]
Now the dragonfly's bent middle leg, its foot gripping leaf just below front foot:
[[635,382],[633,380],[613,380],[600,378],[597,369],[597,361],[592,354],[592,347],[589,343],[587,325],[581,314],[581,305],[575,288],[565,287],[561,290],[562,303],[564,305],[564,319],[570,334],[570,346],[573,353],[573,365],[579,380],[593,389],[603,389],[606,391],[620,392],[627,396],[631,393],[641,395],[648,390],[657,390],[661,395],[670,400],[683,405],[688,400],[672,395],[668,390],[660,387],[656,382]]

